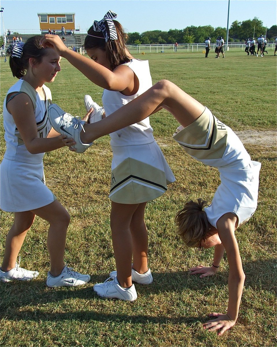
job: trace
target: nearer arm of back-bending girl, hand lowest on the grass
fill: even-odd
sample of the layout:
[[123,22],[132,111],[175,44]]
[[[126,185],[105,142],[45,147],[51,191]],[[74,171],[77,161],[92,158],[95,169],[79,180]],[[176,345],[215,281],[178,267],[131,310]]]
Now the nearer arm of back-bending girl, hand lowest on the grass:
[[239,246],[235,237],[236,220],[237,218],[234,214],[226,213],[217,221],[218,235],[226,249],[229,263],[229,301],[227,314],[216,312],[210,313],[210,316],[215,317],[215,319],[205,323],[204,328],[209,329],[209,331],[221,329],[218,332],[218,335],[222,335],[236,323],[245,279]]

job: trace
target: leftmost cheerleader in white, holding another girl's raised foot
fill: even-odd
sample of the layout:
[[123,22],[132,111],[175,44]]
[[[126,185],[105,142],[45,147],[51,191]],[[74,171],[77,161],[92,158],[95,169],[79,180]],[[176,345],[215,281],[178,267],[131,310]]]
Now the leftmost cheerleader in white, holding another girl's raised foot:
[[66,136],[55,132],[48,118],[51,91],[45,82],[54,82],[61,70],[60,56],[40,45],[42,36],[30,37],[26,43],[8,47],[12,75],[17,81],[7,92],[3,107],[6,152],[1,162],[1,209],[14,213],[0,268],[1,282],[29,281],[37,271],[20,268],[17,256],[35,216],[49,222],[47,248],[50,255],[48,287],[78,286],[90,280],[89,275],[64,265],[63,256],[69,214],[45,185],[44,152],[63,147]]

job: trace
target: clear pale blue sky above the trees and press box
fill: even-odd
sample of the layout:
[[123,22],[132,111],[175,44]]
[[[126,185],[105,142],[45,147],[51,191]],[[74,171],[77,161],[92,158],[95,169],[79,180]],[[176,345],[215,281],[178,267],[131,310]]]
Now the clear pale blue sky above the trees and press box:
[[[108,10],[118,14],[127,32],[183,29],[187,26],[227,27],[228,0],[1,0],[5,29],[39,31],[37,13],[75,13],[76,26],[88,29]],[[229,27],[258,17],[268,28],[276,25],[276,0],[231,0]],[[3,23],[1,16],[1,35]],[[34,32],[35,33],[35,32]]]

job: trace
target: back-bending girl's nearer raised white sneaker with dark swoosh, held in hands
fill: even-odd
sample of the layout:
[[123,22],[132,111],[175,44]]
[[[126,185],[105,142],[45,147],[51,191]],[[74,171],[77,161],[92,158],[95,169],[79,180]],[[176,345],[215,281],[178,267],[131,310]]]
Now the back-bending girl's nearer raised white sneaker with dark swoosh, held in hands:
[[[83,143],[80,139],[80,132],[84,130],[84,120],[79,117],[73,117],[69,113],[63,111],[57,104],[52,104],[48,108],[48,117],[50,119],[52,127],[60,134],[73,137],[76,142],[71,146],[76,148],[77,153],[85,152],[92,143]],[[84,130],[85,131],[85,130]]]

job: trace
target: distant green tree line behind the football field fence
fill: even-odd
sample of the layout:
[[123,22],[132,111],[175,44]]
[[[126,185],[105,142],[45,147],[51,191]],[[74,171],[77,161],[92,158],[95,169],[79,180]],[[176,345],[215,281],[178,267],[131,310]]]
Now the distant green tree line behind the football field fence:
[[[255,33],[254,33],[255,29]],[[226,28],[213,28],[211,25],[187,26],[184,29],[170,29],[168,31],[152,30],[144,33],[129,33],[128,44],[170,44],[170,43],[202,43],[207,37],[215,42],[218,36],[226,40]],[[266,34],[266,27],[257,17],[232,23],[229,28],[229,42],[245,41],[249,37],[259,37]],[[277,37],[277,26],[272,25],[267,29],[267,39],[272,41]]]

